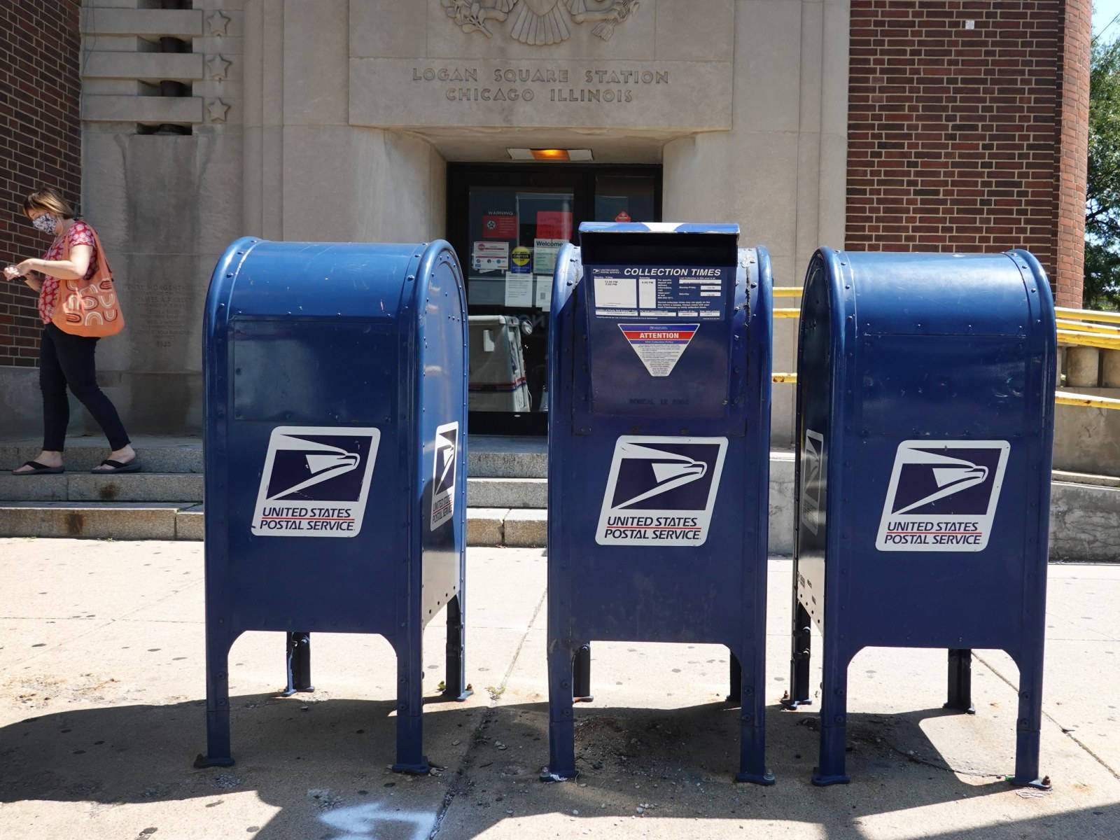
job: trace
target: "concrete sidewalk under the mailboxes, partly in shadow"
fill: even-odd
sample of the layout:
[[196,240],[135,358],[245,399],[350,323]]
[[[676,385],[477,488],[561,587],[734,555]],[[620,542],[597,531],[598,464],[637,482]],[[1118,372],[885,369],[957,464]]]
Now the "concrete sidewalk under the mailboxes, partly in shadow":
[[[767,752],[773,787],[736,785],[727,651],[596,643],[595,702],[577,706],[578,782],[548,762],[540,549],[472,549],[464,703],[435,699],[442,616],[426,635],[426,752],[444,769],[391,773],[395,666],[376,636],[312,636],[312,696],[278,698],[282,637],[231,654],[233,753],[205,748],[203,547],[0,540],[0,837],[1120,838],[1120,567],[1052,566],[1042,769],[1018,791],[1016,671],[978,652],[976,716],[950,715],[943,651],[852,662],[851,784],[813,787],[815,707],[786,688],[788,560],[771,561]],[[819,650],[819,646],[818,646]],[[816,661],[819,664],[819,660]],[[813,682],[816,682],[814,678]]]

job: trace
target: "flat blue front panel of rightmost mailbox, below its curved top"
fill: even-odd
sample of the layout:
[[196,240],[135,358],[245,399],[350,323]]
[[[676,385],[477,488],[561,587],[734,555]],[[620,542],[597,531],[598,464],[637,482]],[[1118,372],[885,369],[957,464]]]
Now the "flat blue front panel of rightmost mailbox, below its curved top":
[[861,343],[839,519],[853,643],[988,647],[1018,634],[1037,492],[1024,353],[1015,336]]

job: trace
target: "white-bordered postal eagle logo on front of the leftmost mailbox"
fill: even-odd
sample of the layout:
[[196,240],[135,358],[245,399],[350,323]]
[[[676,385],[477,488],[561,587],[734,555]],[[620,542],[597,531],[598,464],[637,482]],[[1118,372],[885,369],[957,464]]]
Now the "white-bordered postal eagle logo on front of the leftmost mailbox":
[[269,438],[252,532],[258,536],[356,536],[381,432],[279,426]]

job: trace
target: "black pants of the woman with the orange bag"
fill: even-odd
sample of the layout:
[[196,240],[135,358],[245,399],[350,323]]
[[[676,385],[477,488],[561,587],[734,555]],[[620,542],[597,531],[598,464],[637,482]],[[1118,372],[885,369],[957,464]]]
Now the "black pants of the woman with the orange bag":
[[110,449],[122,449],[129,444],[116,409],[97,386],[93,362],[96,348],[96,338],[64,333],[54,324],[43,328],[39,388],[43,389],[43,448],[47,451],[60,452],[66,445],[66,426],[69,423],[67,385],[101,426],[109,438]]

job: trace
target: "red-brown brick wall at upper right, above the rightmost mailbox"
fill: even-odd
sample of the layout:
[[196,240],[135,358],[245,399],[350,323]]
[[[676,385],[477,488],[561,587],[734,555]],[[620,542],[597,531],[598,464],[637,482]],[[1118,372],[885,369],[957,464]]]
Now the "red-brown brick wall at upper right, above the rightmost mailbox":
[[1090,13],[851,0],[846,245],[1027,248],[1058,304],[1080,306]]

